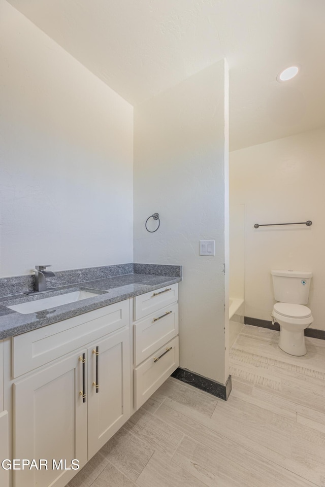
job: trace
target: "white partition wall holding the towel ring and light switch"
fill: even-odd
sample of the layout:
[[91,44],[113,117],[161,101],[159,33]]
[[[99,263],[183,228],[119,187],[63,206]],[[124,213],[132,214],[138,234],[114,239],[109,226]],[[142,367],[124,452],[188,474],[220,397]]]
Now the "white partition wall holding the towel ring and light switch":
[[[228,377],[225,80],[220,61],[135,107],[134,153],[135,261],[183,265],[180,366],[223,384]],[[160,228],[148,233],[145,221],[155,212]],[[200,239],[216,241],[215,257],[199,255]]]

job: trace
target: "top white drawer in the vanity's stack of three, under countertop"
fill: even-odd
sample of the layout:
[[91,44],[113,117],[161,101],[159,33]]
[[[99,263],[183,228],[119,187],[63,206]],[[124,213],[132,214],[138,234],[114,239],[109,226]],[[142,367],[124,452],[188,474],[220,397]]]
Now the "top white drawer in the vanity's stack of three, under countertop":
[[145,316],[151,315],[158,309],[178,300],[178,284],[172,284],[164,288],[156,289],[150,293],[141,294],[133,298],[134,301],[134,320],[140,320]]

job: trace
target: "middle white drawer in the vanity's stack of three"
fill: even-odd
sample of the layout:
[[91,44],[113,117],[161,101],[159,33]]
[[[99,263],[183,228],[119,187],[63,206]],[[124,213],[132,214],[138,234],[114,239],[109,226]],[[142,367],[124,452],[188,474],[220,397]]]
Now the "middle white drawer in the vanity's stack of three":
[[178,304],[159,309],[134,325],[134,364],[138,365],[178,335]]

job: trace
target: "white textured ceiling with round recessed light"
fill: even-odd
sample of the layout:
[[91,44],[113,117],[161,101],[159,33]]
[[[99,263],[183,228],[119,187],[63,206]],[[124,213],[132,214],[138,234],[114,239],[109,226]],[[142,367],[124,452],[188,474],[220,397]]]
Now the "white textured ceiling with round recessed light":
[[133,105],[226,57],[232,150],[325,125],[323,0],[9,3]]

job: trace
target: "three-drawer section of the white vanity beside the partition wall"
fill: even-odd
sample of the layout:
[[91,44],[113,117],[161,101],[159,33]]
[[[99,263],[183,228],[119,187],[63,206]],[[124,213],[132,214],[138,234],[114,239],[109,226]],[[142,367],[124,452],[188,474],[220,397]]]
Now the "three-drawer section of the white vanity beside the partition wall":
[[178,284],[134,298],[135,409],[139,409],[179,365],[177,300]]

